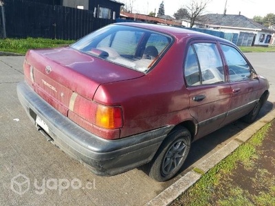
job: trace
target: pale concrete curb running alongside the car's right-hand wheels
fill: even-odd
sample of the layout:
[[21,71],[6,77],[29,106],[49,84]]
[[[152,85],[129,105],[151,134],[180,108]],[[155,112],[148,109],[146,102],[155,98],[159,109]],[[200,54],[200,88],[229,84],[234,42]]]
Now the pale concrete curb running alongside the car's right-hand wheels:
[[[236,138],[232,139],[228,144],[223,146],[220,150],[215,152],[213,155],[208,157],[205,161],[197,165],[196,169],[199,171],[203,171],[204,173],[208,172],[211,168],[214,167],[221,160],[228,157],[236,148],[241,146],[245,141],[250,139],[254,133],[260,130],[265,124],[271,122],[275,119],[275,109],[267,113],[264,117],[259,119],[254,124],[251,124],[247,128],[245,128]],[[194,169],[194,168],[193,168]],[[191,170],[182,176],[178,181],[170,185],[170,187],[166,188],[163,192],[155,196],[151,201],[146,203],[146,206],[161,206],[161,205],[170,205],[179,195],[186,192],[193,184],[195,184],[202,176],[198,172]]]

